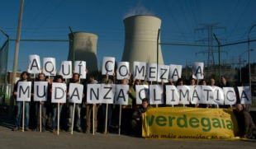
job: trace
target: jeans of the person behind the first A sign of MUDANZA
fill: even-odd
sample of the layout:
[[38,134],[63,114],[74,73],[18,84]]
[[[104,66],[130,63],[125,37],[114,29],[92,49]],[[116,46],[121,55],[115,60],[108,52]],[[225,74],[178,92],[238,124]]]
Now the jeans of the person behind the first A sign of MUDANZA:
[[[74,116],[76,119],[76,128],[81,128],[81,106],[80,104],[75,105]],[[69,103],[69,119],[68,119],[68,127],[72,127],[72,119],[73,119],[73,103]]]

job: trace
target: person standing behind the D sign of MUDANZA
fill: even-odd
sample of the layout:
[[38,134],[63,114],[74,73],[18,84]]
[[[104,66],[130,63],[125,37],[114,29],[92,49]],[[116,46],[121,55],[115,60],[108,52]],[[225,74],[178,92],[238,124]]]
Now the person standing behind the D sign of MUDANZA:
[[[60,76],[60,75],[55,76],[55,82],[63,83],[63,77]],[[49,97],[50,98],[52,98],[52,95],[51,95],[52,92],[53,92],[53,89],[52,89],[52,84],[51,84],[50,91],[49,91],[49,93],[50,93]],[[64,103],[59,104],[59,115],[61,114],[63,105],[64,105]],[[56,126],[56,121],[57,121],[57,118],[58,118],[57,109],[58,109],[58,105],[56,103],[51,103],[51,119],[52,119],[52,123],[51,123],[52,131],[51,132],[52,133],[56,133],[56,129],[57,129],[57,126]]]

